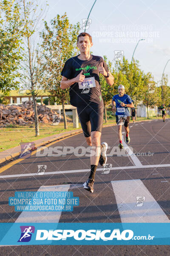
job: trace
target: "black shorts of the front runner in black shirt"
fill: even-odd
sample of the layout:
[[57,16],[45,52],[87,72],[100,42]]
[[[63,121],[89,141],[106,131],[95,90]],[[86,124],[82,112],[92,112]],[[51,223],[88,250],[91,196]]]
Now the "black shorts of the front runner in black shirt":
[[102,132],[103,106],[89,105],[88,107],[77,107],[77,113],[85,137],[91,137],[91,131]]

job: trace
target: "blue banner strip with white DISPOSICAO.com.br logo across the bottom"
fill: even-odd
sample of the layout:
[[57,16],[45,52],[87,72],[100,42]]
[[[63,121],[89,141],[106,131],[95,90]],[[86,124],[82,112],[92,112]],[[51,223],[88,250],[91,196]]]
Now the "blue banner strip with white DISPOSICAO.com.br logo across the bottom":
[[167,244],[170,223],[0,223],[0,245]]

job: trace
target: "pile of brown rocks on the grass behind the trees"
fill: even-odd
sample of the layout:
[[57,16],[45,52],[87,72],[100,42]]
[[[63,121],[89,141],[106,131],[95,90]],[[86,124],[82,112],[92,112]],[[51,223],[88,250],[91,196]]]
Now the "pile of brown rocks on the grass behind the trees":
[[[46,107],[45,104],[37,105],[38,119],[40,122],[52,123],[56,111]],[[62,122],[62,120],[61,120]],[[34,105],[32,101],[26,101],[20,105],[0,104],[0,126],[6,125],[31,125],[34,123]]]

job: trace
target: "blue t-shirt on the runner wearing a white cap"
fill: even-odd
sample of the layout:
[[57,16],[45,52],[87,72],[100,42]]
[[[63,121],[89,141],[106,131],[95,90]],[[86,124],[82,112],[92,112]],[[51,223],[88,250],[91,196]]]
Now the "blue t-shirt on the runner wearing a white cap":
[[119,94],[116,94],[113,96],[113,101],[116,102],[116,115],[124,115],[124,116],[130,116],[130,113],[128,111],[128,108],[122,107],[120,105],[121,102],[125,104],[132,103],[132,99],[129,95],[124,94],[122,97],[119,96]]

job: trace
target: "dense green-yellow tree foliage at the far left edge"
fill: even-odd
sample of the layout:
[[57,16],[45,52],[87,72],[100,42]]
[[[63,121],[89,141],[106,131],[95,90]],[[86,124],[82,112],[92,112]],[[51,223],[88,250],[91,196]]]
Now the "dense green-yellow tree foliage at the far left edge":
[[19,3],[0,1],[0,90],[4,93],[19,87],[22,36]]

